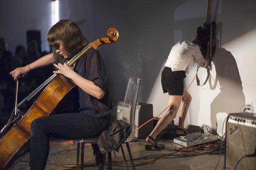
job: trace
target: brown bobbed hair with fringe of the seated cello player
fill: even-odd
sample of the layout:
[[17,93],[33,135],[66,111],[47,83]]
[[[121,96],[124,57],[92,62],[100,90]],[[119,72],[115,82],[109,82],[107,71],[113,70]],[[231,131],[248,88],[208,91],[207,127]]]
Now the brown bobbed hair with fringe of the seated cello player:
[[79,26],[72,20],[59,20],[47,34],[47,40],[52,48],[54,62],[63,63],[65,60],[61,55],[55,53],[57,41],[63,42],[64,49],[71,57],[88,45],[87,38],[82,34]]

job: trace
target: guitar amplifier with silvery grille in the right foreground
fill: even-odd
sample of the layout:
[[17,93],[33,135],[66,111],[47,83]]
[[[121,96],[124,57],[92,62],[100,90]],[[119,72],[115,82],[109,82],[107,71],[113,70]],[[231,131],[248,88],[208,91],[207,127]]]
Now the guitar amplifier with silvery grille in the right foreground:
[[256,170],[256,114],[230,113],[226,125],[225,167]]

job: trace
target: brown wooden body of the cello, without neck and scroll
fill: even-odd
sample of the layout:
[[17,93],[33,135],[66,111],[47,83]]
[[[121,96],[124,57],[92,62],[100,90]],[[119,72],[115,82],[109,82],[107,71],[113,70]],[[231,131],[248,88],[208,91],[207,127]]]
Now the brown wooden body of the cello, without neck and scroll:
[[60,107],[75,86],[75,83],[63,75],[58,75],[50,82],[23,118],[0,140],[0,168],[15,165],[29,152],[31,122],[39,117],[48,116]]

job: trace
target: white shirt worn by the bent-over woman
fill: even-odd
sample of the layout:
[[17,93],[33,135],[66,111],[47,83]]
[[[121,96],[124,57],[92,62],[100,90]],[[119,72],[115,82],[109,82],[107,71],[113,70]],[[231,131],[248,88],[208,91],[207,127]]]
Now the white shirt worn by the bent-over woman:
[[189,63],[198,63],[201,67],[207,66],[207,60],[201,54],[198,45],[191,41],[179,41],[172,47],[164,66],[172,68],[172,71],[186,71],[189,74]]

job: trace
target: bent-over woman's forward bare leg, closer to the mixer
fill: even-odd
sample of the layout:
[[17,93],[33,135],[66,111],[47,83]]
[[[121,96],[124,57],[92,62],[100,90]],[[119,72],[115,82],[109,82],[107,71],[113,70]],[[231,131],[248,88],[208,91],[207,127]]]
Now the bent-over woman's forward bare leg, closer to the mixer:
[[[189,105],[191,103],[191,100],[192,100],[191,95],[189,94],[189,92],[186,91],[182,96],[183,105],[182,105],[180,117],[179,117],[179,128],[181,129],[184,129],[184,122],[186,119],[186,115],[189,111]],[[176,134],[183,134],[183,133],[184,132],[182,130],[176,131]]]

